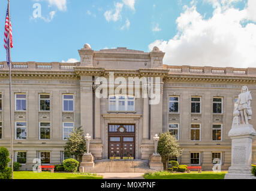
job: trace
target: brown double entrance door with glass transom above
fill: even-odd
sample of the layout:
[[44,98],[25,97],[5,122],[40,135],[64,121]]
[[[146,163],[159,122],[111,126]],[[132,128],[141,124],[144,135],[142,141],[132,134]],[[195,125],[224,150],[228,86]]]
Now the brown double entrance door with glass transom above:
[[109,158],[135,158],[135,125],[109,125]]

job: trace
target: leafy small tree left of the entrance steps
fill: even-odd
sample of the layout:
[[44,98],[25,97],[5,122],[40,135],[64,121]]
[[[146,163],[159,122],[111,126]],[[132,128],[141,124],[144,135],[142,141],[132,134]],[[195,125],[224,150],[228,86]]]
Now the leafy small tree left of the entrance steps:
[[74,128],[64,149],[67,153],[74,155],[77,161],[82,162],[82,156],[86,152],[86,140],[82,127]]

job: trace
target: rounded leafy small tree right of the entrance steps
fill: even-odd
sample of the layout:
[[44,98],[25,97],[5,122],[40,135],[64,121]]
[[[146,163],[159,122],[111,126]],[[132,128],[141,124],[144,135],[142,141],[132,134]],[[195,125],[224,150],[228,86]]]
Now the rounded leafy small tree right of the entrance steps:
[[161,155],[164,162],[164,170],[168,170],[168,161],[173,156],[180,156],[183,149],[179,148],[179,143],[170,132],[162,133],[159,136],[157,152]]

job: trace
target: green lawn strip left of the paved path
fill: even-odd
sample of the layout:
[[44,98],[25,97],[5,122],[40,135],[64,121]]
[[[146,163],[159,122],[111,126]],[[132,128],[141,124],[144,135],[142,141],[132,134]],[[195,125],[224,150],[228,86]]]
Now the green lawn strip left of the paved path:
[[14,179],[102,179],[97,174],[89,173],[61,173],[61,172],[14,172]]

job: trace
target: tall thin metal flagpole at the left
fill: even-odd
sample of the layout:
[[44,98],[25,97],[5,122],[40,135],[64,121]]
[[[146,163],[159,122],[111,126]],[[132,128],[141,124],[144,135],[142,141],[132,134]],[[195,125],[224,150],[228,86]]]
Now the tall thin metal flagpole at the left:
[[9,17],[9,45],[8,45],[8,51],[9,51],[9,100],[10,100],[10,128],[11,128],[11,177],[13,178],[13,128],[12,128],[12,120],[11,120],[11,33],[10,33],[10,27],[11,27],[11,17],[10,17],[10,0],[8,0],[8,17]]

